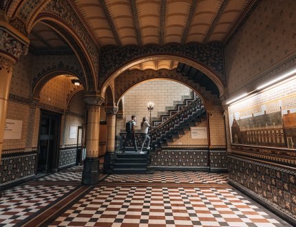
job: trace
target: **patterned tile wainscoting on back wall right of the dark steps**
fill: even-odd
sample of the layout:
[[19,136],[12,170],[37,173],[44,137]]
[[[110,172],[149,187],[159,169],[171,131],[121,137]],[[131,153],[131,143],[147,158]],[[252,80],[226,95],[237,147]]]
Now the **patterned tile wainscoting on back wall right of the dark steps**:
[[167,147],[151,152],[151,168],[226,172],[226,149]]

